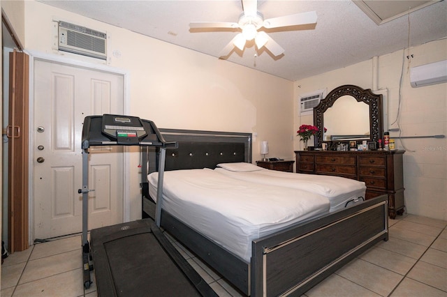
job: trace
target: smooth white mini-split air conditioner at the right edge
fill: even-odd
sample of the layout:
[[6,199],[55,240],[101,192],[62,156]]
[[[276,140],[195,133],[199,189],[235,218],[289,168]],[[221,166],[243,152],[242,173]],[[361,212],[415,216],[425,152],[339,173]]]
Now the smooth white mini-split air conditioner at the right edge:
[[413,88],[447,82],[447,60],[410,68]]

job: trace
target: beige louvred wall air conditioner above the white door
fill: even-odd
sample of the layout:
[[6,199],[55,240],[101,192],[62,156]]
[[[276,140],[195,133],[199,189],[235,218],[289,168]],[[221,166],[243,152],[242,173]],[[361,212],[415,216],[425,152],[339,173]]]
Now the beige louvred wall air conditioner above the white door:
[[59,21],[59,50],[107,59],[107,34],[85,26]]

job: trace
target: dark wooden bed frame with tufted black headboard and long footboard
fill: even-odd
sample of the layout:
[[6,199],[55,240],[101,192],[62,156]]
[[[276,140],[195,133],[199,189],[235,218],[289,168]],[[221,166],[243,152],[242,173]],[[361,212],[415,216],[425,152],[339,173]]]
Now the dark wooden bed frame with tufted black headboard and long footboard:
[[[166,151],[165,170],[212,168],[219,162],[251,162],[251,134],[160,129],[176,149]],[[143,153],[143,164],[156,152]],[[154,218],[155,204],[142,170],[143,216]],[[147,171],[146,171],[147,170]],[[196,230],[161,212],[161,227],[247,296],[300,296],[379,241],[388,241],[388,196],[292,224],[252,242],[247,263]]]

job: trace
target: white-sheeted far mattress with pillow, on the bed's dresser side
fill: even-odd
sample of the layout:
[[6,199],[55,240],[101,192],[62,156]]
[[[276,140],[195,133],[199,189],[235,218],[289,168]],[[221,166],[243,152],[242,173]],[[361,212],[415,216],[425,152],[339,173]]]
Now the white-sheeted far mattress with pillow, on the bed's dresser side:
[[240,181],[307,190],[330,201],[330,212],[364,201],[366,185],[340,176],[295,174],[265,169],[251,163],[225,163],[214,169]]

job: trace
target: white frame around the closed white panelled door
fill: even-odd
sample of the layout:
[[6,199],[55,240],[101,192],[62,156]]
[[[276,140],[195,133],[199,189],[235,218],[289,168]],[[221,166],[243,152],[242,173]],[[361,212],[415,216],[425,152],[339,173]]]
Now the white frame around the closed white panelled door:
[[[46,61],[48,63],[59,63],[75,68],[87,68],[88,70],[96,70],[112,73],[115,75],[122,75],[124,79],[124,114],[129,112],[129,98],[130,98],[130,79],[129,70],[113,68],[111,66],[88,63],[86,61],[79,61],[76,59],[68,59],[52,54],[45,54],[36,51],[24,51],[29,55],[29,243],[34,243],[34,62]],[[82,148],[79,148],[82,151]],[[131,201],[130,201],[130,152],[127,146],[124,146],[124,188],[123,188],[123,222],[131,220]],[[79,185],[82,188],[82,185]]]

